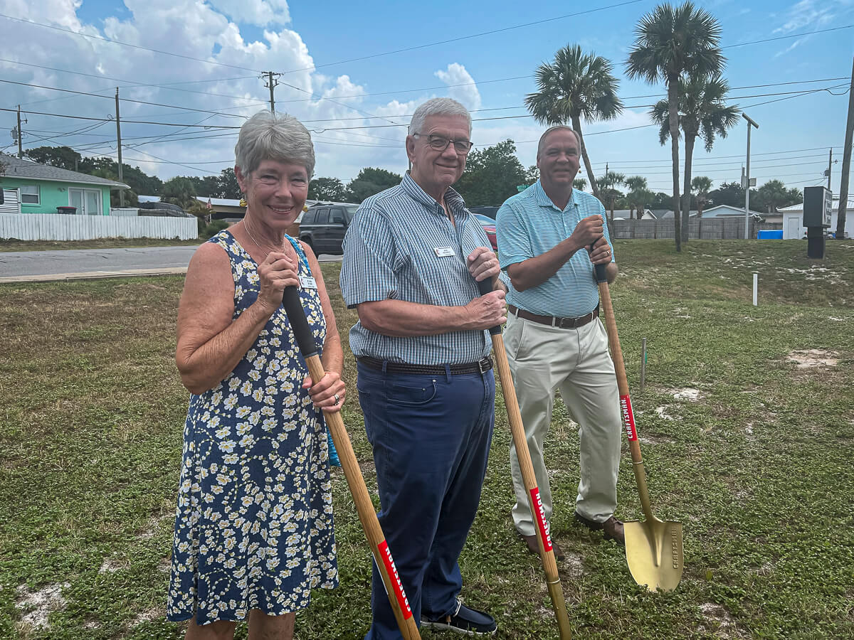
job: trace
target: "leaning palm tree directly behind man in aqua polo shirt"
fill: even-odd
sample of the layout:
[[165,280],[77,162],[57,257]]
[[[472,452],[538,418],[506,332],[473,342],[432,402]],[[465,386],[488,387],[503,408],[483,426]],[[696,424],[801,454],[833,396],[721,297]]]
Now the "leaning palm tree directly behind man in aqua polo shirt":
[[582,54],[577,44],[567,45],[558,49],[552,63],[544,62],[537,68],[539,92],[525,96],[525,106],[541,125],[564,125],[567,121],[572,124],[597,198],[599,189],[584,146],[581,119],[610,120],[623,113],[623,102],[617,97],[619,82],[612,70],[611,61],[600,55]]

